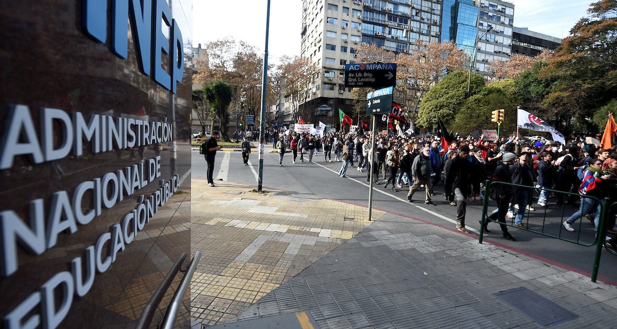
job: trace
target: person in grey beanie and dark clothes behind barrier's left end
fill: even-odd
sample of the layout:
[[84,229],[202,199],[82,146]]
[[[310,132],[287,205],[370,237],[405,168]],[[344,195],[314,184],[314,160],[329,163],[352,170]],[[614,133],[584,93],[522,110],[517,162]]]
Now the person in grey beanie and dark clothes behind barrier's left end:
[[[505,214],[508,212],[508,203],[512,198],[511,185],[507,185],[508,183],[512,183],[512,175],[510,173],[509,167],[511,167],[511,165],[515,162],[516,155],[514,153],[507,152],[503,154],[501,158],[502,161],[498,162],[497,168],[495,168],[495,171],[493,172],[491,186],[489,186],[489,189],[494,190],[494,193],[491,193],[491,191],[489,191],[489,195],[495,194],[497,198],[495,199],[495,201],[497,202],[497,211],[493,212],[489,216],[489,219],[497,220],[497,222],[500,223],[499,227],[502,230],[503,238],[510,241],[516,241],[516,239],[510,235],[510,233],[508,232],[508,227],[505,225]],[[488,226],[489,222],[485,220],[484,227],[482,229],[486,233],[489,233]]]

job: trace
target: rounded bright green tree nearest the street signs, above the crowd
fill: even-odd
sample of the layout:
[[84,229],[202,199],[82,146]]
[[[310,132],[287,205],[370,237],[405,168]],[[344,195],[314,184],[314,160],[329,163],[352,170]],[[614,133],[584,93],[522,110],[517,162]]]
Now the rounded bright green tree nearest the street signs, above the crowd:
[[[445,125],[452,122],[465,104],[467,79],[467,72],[452,72],[433,86],[422,98],[417,123],[437,127],[437,118],[441,118]],[[479,93],[483,88],[484,78],[472,74],[470,94]]]

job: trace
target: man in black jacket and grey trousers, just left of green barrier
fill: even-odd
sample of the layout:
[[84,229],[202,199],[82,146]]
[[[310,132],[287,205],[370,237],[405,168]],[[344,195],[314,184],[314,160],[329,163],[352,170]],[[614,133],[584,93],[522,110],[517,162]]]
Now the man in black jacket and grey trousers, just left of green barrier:
[[481,178],[474,172],[477,164],[473,162],[477,160],[469,154],[469,146],[461,146],[458,157],[452,160],[444,187],[445,196],[453,194],[457,202],[457,229],[463,233],[467,232],[465,228],[467,197],[472,193],[476,195],[479,193],[481,181]]

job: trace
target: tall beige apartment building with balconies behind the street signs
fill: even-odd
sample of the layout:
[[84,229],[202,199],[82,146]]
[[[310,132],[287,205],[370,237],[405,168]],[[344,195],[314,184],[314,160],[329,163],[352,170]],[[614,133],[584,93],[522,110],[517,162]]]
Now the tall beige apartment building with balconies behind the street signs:
[[410,52],[416,40],[439,41],[441,6],[441,0],[304,0],[300,55],[312,59],[321,72],[299,109],[284,107],[284,122],[302,115],[312,123],[337,125],[338,109],[349,114],[353,106],[350,88],[344,86],[344,65],[355,63],[358,46],[375,43]]

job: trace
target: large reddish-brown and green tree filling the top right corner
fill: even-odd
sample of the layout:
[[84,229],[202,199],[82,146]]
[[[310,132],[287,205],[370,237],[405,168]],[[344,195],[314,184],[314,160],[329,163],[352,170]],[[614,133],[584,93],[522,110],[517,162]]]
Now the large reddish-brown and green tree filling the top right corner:
[[589,124],[593,109],[617,94],[617,2],[594,2],[587,14],[540,72],[556,80],[542,105],[567,113],[560,118],[566,126]]

